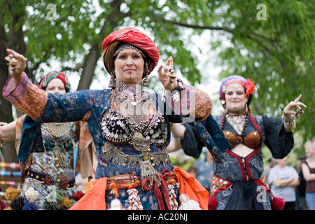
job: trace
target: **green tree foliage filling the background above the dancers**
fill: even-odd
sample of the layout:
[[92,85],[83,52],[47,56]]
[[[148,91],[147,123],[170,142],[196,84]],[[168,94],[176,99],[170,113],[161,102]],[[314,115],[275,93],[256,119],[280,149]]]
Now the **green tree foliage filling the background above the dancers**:
[[[50,3],[55,20],[47,18]],[[258,20],[260,3],[266,6],[266,20]],[[257,83],[253,113],[281,116],[284,106],[302,93],[307,109],[297,119],[296,132],[304,140],[314,139],[314,0],[20,0],[0,6],[0,27],[6,35],[1,39],[7,41],[23,27],[25,55],[36,76],[43,75],[43,64],[80,68],[94,41],[100,45],[111,31],[132,26],[153,38],[161,62],[172,55],[176,69],[194,85],[209,74],[197,69],[200,59],[192,52],[196,50],[192,38],[211,30],[205,44],[211,52],[220,51],[216,59],[223,69],[220,78],[239,74]],[[116,8],[119,13],[112,15]],[[202,57],[213,62],[209,55]],[[82,70],[75,72],[80,75]]]

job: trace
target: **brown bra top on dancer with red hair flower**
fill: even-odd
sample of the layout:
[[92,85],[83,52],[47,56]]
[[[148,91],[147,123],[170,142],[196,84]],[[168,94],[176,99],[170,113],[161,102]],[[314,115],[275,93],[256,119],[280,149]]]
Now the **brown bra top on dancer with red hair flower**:
[[228,122],[225,123],[223,133],[225,134],[225,137],[228,139],[228,141],[230,141],[232,147],[235,147],[239,143],[253,149],[256,149],[258,146],[260,146],[260,133],[255,129],[249,120],[243,134],[239,135]]

